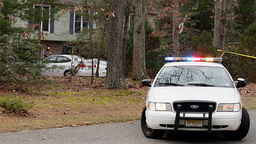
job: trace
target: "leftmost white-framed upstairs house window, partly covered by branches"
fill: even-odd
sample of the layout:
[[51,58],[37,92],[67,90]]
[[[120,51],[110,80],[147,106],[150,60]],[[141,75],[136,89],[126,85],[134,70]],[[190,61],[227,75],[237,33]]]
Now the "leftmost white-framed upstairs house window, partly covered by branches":
[[[34,6],[34,13],[38,13],[38,11],[40,11],[42,6]],[[43,9],[47,10],[42,12],[42,18],[39,18],[40,20],[37,20],[36,18],[34,18],[34,23],[35,24],[40,24],[41,27],[41,31],[45,31],[45,32],[50,32],[50,5],[43,5]],[[48,17],[46,17],[48,15]],[[34,27],[34,30],[39,30],[39,27]]]

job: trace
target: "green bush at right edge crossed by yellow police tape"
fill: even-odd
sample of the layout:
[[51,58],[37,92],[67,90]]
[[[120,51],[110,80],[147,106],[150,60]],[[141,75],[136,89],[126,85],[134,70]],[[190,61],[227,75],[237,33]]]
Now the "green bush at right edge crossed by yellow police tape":
[[[237,53],[256,56],[256,21],[240,36]],[[247,82],[256,82],[256,59],[238,56],[238,74]]]

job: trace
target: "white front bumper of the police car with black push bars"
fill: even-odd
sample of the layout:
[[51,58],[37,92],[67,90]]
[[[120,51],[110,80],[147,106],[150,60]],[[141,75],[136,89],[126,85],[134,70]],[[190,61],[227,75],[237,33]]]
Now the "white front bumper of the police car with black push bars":
[[[210,111],[210,110],[209,110]],[[237,130],[241,124],[242,112],[180,113],[173,111],[146,110],[146,122],[152,129],[219,131]],[[185,119],[203,120],[203,127],[185,127]]]

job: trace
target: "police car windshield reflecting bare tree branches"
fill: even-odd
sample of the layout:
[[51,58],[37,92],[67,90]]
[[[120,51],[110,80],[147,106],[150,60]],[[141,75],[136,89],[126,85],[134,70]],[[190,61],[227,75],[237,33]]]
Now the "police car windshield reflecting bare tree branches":
[[224,68],[212,66],[164,67],[155,83],[155,87],[179,85],[187,87],[234,88],[226,70]]

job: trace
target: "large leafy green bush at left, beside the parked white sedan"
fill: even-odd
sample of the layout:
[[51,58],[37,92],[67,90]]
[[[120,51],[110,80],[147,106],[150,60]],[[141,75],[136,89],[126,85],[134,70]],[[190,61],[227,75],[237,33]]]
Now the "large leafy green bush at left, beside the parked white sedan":
[[45,84],[50,80],[41,77],[46,65],[37,58],[37,46],[26,39],[0,38],[0,87],[20,89],[31,84]]

